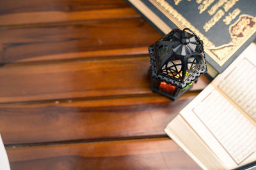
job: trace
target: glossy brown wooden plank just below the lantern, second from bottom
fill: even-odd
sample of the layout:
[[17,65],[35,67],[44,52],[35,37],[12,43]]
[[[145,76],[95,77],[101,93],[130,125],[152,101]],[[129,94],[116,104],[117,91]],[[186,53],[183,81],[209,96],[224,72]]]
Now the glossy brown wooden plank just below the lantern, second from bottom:
[[4,144],[45,143],[165,135],[164,127],[198,93],[173,102],[136,97],[0,106]]

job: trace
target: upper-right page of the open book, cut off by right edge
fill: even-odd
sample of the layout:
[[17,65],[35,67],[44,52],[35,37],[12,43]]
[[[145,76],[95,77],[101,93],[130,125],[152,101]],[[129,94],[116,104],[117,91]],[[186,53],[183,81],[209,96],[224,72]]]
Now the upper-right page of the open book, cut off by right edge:
[[252,43],[212,83],[256,123],[256,45]]

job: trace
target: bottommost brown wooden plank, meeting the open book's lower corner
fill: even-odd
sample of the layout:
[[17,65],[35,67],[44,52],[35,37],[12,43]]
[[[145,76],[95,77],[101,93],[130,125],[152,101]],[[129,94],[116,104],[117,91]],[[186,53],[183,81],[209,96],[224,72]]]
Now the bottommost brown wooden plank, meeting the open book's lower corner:
[[169,138],[7,148],[14,169],[200,169]]

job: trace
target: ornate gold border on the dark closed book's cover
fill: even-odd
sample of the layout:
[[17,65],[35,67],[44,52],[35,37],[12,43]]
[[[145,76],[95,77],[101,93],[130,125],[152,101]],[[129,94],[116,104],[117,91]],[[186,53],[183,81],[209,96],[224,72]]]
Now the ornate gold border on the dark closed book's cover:
[[215,46],[204,34],[198,31],[186,18],[182,17],[177,10],[170,6],[169,3],[164,0],[149,1],[180,29],[188,27],[195,31],[200,39],[204,41],[205,52],[220,66],[256,32],[256,17],[242,14],[234,24],[229,26],[229,34],[232,40],[227,44]]

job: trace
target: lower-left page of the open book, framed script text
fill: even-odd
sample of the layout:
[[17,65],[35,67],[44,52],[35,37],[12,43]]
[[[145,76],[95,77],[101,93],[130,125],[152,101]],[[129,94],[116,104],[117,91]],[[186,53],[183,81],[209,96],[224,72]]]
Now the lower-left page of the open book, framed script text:
[[256,127],[208,85],[180,115],[228,169],[256,159]]

